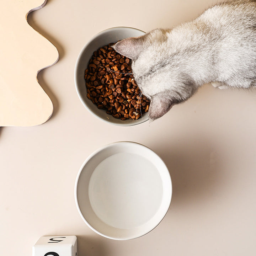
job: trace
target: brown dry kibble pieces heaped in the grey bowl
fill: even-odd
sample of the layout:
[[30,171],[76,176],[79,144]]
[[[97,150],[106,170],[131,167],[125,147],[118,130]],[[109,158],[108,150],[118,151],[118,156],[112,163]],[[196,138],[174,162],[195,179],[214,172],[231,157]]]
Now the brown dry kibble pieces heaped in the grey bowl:
[[111,45],[99,48],[89,61],[85,70],[87,97],[115,118],[138,119],[148,112],[150,101],[134,81],[130,59]]

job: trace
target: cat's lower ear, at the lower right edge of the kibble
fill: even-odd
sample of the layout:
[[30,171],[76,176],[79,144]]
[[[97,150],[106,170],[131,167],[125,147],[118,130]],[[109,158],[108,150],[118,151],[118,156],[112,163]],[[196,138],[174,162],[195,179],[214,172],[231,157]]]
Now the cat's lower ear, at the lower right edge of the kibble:
[[180,103],[179,100],[171,98],[167,92],[151,96],[149,105],[149,119],[154,121],[166,114],[173,105]]

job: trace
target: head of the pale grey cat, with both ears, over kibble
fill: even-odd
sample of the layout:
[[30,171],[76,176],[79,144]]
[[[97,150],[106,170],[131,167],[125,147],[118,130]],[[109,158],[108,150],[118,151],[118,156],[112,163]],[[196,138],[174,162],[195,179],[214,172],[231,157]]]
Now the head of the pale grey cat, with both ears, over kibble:
[[174,44],[166,30],[156,29],[140,37],[123,39],[113,46],[118,53],[132,59],[134,79],[150,99],[151,120],[163,116],[196,91]]

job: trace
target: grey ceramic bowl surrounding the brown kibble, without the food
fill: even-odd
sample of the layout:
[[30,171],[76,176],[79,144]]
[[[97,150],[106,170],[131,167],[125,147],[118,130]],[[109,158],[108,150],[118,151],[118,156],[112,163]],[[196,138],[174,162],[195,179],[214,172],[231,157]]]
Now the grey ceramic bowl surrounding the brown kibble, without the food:
[[122,121],[121,119],[114,118],[113,116],[106,113],[105,110],[100,110],[91,100],[87,98],[87,91],[84,79],[84,72],[87,68],[90,58],[95,50],[105,46],[109,43],[115,43],[127,37],[142,36],[145,32],[131,27],[113,27],[104,30],[96,36],[94,36],[81,50],[75,65],[75,86],[78,96],[82,104],[91,112],[94,116],[101,120],[115,124],[118,126],[133,126],[135,124],[143,123],[148,121],[148,113],[137,120],[127,119]]

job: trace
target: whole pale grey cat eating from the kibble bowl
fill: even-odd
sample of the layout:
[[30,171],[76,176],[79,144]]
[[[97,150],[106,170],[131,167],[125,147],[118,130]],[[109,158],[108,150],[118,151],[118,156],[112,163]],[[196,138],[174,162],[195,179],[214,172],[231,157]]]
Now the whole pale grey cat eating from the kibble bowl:
[[151,100],[149,118],[154,120],[203,84],[220,89],[256,85],[256,0],[222,2],[193,21],[113,47],[132,59],[134,79]]

